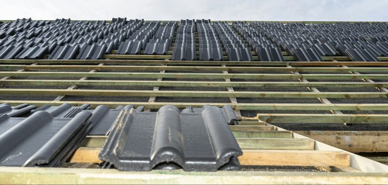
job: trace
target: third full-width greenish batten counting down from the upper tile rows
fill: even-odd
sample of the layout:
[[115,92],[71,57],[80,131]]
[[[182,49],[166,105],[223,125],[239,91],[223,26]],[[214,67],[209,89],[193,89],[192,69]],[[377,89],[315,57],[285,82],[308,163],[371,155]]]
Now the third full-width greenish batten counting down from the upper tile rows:
[[120,78],[202,78],[202,79],[388,79],[385,74],[215,74],[215,73],[99,73],[99,72],[0,72],[14,77],[120,77]]

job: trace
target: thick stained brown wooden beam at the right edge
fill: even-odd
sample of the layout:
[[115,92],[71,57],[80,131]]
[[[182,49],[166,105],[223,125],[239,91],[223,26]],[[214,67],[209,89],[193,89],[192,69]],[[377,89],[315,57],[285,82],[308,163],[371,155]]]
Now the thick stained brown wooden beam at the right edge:
[[388,131],[294,131],[349,152],[388,152]]

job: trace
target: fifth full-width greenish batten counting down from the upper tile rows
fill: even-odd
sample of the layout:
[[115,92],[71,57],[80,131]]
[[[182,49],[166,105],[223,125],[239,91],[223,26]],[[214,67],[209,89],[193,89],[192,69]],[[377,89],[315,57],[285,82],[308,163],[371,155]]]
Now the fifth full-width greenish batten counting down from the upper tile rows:
[[78,96],[254,97],[254,98],[386,98],[387,92],[265,92],[265,91],[152,91],[96,89],[0,89],[0,94]]

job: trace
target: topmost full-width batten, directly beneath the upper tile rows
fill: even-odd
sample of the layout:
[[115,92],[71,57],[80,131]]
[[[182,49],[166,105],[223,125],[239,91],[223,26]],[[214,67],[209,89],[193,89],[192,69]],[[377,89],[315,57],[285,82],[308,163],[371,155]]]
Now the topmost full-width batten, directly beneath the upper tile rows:
[[226,65],[226,66],[388,66],[388,61],[191,61],[191,60],[47,60],[0,59],[0,64],[131,64],[131,65]]

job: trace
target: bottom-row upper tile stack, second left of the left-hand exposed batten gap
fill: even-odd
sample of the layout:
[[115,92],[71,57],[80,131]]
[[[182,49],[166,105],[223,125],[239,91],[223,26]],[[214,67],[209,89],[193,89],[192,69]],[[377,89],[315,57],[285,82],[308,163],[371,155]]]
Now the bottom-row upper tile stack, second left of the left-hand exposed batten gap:
[[57,46],[57,48],[54,49],[53,53],[51,53],[48,59],[75,59],[76,54],[78,54],[80,48],[81,47],[78,44],[74,44],[73,46],[70,44]]

